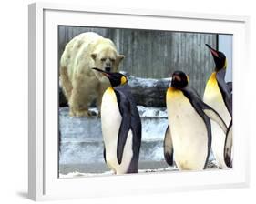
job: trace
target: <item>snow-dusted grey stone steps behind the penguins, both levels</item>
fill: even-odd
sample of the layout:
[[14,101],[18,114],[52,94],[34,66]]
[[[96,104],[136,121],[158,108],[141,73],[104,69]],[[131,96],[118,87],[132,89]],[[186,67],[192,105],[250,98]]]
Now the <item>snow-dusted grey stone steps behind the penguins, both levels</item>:
[[[163,139],[168,126],[166,109],[139,107],[138,110],[142,123],[139,163],[165,164],[166,167],[163,155]],[[105,167],[100,118],[69,117],[68,107],[61,107],[59,116],[60,172],[67,172],[67,168],[70,170],[75,167],[92,168],[97,165]],[[214,157],[210,154],[210,162],[213,159]],[[145,168],[150,167],[145,166]],[[163,165],[159,168],[163,168]],[[102,168],[100,171],[106,169],[108,168]],[[95,170],[97,171],[96,168]]]

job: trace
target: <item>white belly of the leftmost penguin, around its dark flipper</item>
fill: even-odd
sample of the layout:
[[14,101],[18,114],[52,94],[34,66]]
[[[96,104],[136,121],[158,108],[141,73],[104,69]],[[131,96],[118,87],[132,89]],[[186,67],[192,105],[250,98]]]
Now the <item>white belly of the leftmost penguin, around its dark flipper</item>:
[[127,172],[133,156],[132,132],[131,130],[128,131],[128,138],[123,151],[122,162],[121,164],[118,164],[118,132],[122,116],[119,112],[116,94],[113,89],[109,88],[102,97],[101,105],[101,126],[106,149],[106,161],[108,167],[114,170],[115,173],[124,174]]

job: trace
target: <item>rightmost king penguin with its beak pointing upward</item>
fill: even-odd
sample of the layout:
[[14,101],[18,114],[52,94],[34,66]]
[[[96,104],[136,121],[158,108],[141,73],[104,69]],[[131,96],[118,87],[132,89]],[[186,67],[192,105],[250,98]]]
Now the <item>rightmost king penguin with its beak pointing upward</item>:
[[[228,134],[224,135],[218,125],[211,123],[212,151],[218,167],[229,168],[230,162],[226,162],[225,160],[229,160],[227,157],[230,156],[230,146],[232,144],[230,142],[230,139],[232,139],[232,131],[230,131],[232,129],[232,85],[231,82],[225,82],[227,68],[226,56],[222,52],[213,49],[208,44],[206,44],[206,46],[208,46],[210,53],[213,56],[215,69],[206,84],[203,101],[210,107],[213,107],[229,127]],[[227,137],[229,139],[227,139]],[[229,149],[229,151],[226,151],[227,153],[225,153],[225,149]]]

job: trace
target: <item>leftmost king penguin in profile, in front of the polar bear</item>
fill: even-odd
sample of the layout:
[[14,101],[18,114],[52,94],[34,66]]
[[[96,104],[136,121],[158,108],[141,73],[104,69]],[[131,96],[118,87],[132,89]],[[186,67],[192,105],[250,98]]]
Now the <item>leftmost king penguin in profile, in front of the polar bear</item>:
[[120,73],[93,68],[107,76],[111,87],[101,105],[104,158],[116,174],[138,173],[141,120],[129,91],[128,79]]

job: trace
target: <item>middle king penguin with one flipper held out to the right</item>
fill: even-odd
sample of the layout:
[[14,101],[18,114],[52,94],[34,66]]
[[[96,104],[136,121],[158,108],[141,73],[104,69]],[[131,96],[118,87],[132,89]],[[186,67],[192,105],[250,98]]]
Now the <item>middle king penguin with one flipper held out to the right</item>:
[[164,141],[165,158],[169,164],[174,158],[180,170],[202,170],[210,155],[210,119],[216,121],[224,133],[227,127],[219,114],[189,87],[188,77],[184,72],[175,71],[167,90],[169,127]]

